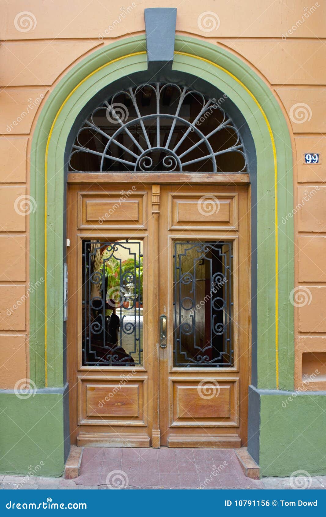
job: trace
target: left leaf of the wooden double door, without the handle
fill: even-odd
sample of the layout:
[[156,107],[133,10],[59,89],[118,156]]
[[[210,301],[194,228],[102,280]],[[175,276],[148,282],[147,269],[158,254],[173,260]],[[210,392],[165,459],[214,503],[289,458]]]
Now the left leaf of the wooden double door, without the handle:
[[[153,321],[152,291],[158,290],[154,285],[152,272],[152,225],[147,217],[148,210],[151,208],[147,206],[151,200],[147,192],[151,193],[151,187],[126,185],[125,189],[129,194],[123,199],[120,199],[121,192],[118,185],[101,185],[100,189],[96,185],[91,185],[83,190],[80,185],[70,185],[68,189],[67,237],[70,239],[70,247],[67,249],[69,271],[67,355],[70,429],[71,443],[80,446],[148,447],[151,441],[153,406],[156,399],[155,396],[149,398],[149,393],[154,393],[155,390],[153,333],[148,329]],[[106,217],[106,214],[110,217]],[[100,218],[102,223],[99,222]],[[106,355],[101,353],[100,343],[97,342],[92,345],[97,351],[96,355],[94,358],[92,356],[91,361],[85,362],[85,353],[82,350],[90,345],[85,342],[85,336],[88,334],[83,332],[85,321],[88,321],[84,316],[86,306],[83,300],[85,292],[86,296],[94,297],[92,294],[87,294],[88,287],[85,291],[85,285],[88,285],[89,280],[87,282],[83,280],[83,275],[89,267],[87,262],[86,267],[83,266],[86,256],[85,242],[87,244],[88,241],[100,243],[97,244],[99,247],[103,242],[104,249],[110,242],[126,243],[123,246],[127,248],[134,241],[142,244],[142,255],[139,256],[143,258],[143,300],[141,302],[138,299],[136,306],[139,311],[142,311],[142,321],[144,321],[144,330],[141,329],[140,334],[137,333],[137,346],[141,347],[141,364],[119,366],[117,362],[116,366],[107,366]],[[121,264],[128,258],[127,255],[121,255]],[[122,275],[122,270],[120,273]],[[114,275],[112,278],[114,279]],[[128,282],[129,280],[126,281]],[[125,311],[123,303],[125,301],[121,302],[122,309]],[[128,304],[127,309],[130,307],[130,302]],[[92,314],[93,309],[89,308],[88,301],[86,305],[87,314]],[[90,305],[90,307],[93,306]],[[108,314],[110,313],[109,309]],[[105,322],[106,314],[105,309],[105,320],[103,320]],[[126,311],[123,314],[126,314],[125,317],[128,315]],[[133,321],[129,320],[128,318],[126,320],[126,333],[123,334],[122,342],[127,352],[128,346],[132,348],[127,339],[128,332],[132,330]],[[120,318],[120,326],[121,324]],[[106,335],[105,332],[103,327],[103,336]],[[111,336],[108,330],[107,333]],[[105,340],[106,338],[104,343],[106,343]],[[119,354],[121,352],[117,351],[117,361],[120,359]],[[110,351],[108,355],[115,356]],[[133,356],[135,360],[136,357],[137,355]]]

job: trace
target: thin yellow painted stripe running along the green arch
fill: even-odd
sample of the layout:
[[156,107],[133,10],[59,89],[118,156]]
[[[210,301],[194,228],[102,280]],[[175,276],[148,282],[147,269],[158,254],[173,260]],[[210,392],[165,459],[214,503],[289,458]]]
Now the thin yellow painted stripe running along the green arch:
[[[44,316],[45,316],[45,325],[44,325],[44,362],[45,362],[45,386],[48,386],[48,308],[47,308],[47,300],[48,300],[48,292],[47,292],[47,266],[48,266],[48,255],[47,255],[47,207],[48,207],[48,154],[49,154],[49,145],[50,140],[52,136],[52,132],[55,126],[55,123],[57,121],[58,116],[60,115],[60,112],[63,110],[65,104],[70,99],[70,97],[74,94],[74,92],[85,82],[87,79],[89,79],[92,75],[97,73],[99,70],[112,65],[113,63],[116,63],[120,61],[121,59],[125,59],[126,57],[131,56],[137,56],[141,54],[146,54],[146,51],[141,52],[134,52],[131,54],[127,54],[125,56],[117,57],[116,59],[113,59],[112,61],[105,63],[104,65],[100,66],[96,70],[89,73],[82,81],[80,81],[70,92],[70,94],[66,97],[64,102],[61,104],[50,129],[48,141],[46,142],[46,149],[45,149],[45,194],[44,194],[44,202],[45,202],[45,210],[44,210]],[[219,68],[220,70],[223,70],[223,72],[227,73],[232,79],[234,79],[237,83],[239,83],[245,91],[252,97],[252,99],[255,101],[259,111],[261,112],[263,118],[266,121],[266,125],[268,127],[268,131],[270,134],[271,142],[272,142],[272,148],[273,148],[273,157],[274,157],[274,194],[275,194],[275,367],[276,367],[276,387],[278,389],[278,219],[277,219],[277,161],[276,161],[276,147],[275,147],[275,141],[273,132],[270,126],[270,123],[268,121],[268,118],[263,111],[261,105],[259,104],[256,97],[252,94],[252,92],[231,72],[226,70],[226,68],[223,68],[222,66],[213,63],[209,59],[205,59],[204,57],[196,56],[194,54],[189,54],[188,52],[175,52],[175,54],[183,55],[183,56],[189,56],[195,59],[199,59],[201,61],[204,61],[205,63],[208,63],[216,68]]]

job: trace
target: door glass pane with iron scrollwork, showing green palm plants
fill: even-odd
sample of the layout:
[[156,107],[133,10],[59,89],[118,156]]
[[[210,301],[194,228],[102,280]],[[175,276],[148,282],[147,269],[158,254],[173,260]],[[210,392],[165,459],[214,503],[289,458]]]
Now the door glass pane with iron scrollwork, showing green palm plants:
[[142,364],[142,241],[83,241],[82,310],[84,366]]

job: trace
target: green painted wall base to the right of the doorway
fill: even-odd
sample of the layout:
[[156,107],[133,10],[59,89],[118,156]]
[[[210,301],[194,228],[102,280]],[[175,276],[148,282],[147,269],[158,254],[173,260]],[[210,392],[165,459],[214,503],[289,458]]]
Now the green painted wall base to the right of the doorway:
[[262,394],[259,466],[262,476],[291,476],[306,470],[326,475],[324,392]]

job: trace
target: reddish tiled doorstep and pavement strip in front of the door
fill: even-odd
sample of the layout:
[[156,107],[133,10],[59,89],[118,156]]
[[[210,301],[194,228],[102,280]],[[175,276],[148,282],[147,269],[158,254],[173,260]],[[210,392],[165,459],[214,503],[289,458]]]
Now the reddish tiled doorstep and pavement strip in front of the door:
[[[310,480],[309,488],[326,488],[326,477]],[[289,478],[252,480],[245,477],[232,449],[94,447],[84,450],[81,475],[76,479],[0,476],[0,488],[264,490],[291,489],[292,486]]]

